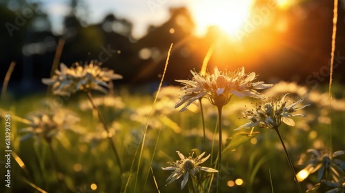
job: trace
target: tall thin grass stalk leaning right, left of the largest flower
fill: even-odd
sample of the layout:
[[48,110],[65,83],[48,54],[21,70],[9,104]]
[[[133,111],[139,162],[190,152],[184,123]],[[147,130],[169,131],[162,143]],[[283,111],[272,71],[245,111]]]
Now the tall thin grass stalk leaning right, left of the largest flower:
[[[144,145],[145,145],[145,140],[146,140],[146,133],[147,133],[147,130],[148,130],[148,121],[150,120],[150,116],[152,114],[152,111],[155,108],[155,103],[157,101],[157,98],[158,98],[158,95],[159,95],[159,91],[161,90],[161,85],[163,84],[163,80],[164,80],[164,77],[166,75],[166,69],[168,68],[168,63],[169,63],[169,58],[170,58],[170,52],[171,52],[171,49],[172,49],[172,45],[173,45],[173,43],[171,43],[170,48],[168,50],[168,56],[166,57],[166,65],[164,66],[164,72],[163,72],[163,75],[161,76],[161,82],[159,83],[159,87],[158,87],[158,90],[157,90],[157,93],[156,93],[156,96],[155,96],[155,101],[153,101],[150,113],[148,114],[148,119],[146,121],[145,129],[144,129],[144,134],[141,137],[142,138],[142,143],[139,143],[139,145],[138,145],[138,148],[141,145],[141,149],[140,149],[140,153],[139,153],[139,161],[138,161],[138,167],[137,167],[137,176],[135,176],[134,192],[137,190],[138,174],[139,174],[141,156],[142,156],[143,151],[144,151]],[[135,159],[135,157],[134,157],[134,159]],[[128,181],[129,181],[129,179],[130,178],[128,178]]]

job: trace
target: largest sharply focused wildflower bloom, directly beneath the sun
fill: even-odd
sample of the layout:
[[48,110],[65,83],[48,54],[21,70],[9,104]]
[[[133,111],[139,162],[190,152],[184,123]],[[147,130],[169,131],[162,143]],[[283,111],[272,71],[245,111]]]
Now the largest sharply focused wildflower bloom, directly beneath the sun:
[[255,72],[250,74],[244,73],[244,68],[239,68],[235,72],[219,72],[215,67],[214,73],[211,75],[204,75],[195,71],[190,71],[193,74],[192,80],[177,80],[184,84],[181,88],[183,95],[176,103],[175,108],[186,103],[181,112],[188,108],[190,103],[203,97],[207,98],[210,103],[216,106],[226,105],[233,94],[237,96],[250,96],[257,99],[265,99],[264,95],[257,92],[265,88],[270,88],[271,84],[264,84],[264,82],[252,83],[256,79]]

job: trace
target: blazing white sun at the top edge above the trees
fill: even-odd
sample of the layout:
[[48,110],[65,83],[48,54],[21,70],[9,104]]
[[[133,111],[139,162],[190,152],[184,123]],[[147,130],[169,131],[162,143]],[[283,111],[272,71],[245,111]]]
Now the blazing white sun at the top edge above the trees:
[[192,16],[197,24],[196,34],[205,34],[209,26],[218,26],[230,37],[235,37],[250,14],[253,0],[195,1]]

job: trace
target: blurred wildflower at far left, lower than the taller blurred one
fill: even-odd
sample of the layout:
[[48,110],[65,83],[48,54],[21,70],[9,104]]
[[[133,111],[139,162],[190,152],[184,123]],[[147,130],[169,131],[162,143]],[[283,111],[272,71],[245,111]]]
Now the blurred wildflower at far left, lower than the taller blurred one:
[[28,120],[30,127],[20,130],[21,132],[28,132],[28,134],[22,136],[21,140],[38,136],[50,142],[52,137],[59,134],[61,130],[72,130],[73,125],[80,119],[67,110],[59,109],[54,114],[36,112],[30,115]]

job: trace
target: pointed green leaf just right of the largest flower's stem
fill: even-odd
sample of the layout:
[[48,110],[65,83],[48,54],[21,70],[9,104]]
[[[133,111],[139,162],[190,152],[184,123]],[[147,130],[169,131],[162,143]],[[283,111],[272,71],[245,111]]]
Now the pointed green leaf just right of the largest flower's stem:
[[230,136],[230,138],[226,139],[226,145],[222,153],[224,154],[225,152],[235,150],[239,147],[239,145],[246,141],[249,141],[259,133],[260,132],[252,132],[251,134],[249,132],[235,133],[233,136]]

